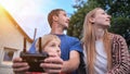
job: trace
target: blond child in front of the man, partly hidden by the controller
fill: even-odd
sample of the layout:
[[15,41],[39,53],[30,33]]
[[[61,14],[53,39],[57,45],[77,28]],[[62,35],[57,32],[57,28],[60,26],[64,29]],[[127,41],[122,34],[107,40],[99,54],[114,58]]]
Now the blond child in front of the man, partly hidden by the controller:
[[[61,57],[61,39],[56,35],[44,35],[41,37],[41,49],[48,53],[56,53]],[[36,50],[39,51],[39,39],[36,41]],[[30,74],[41,74],[39,72],[31,72]],[[47,73],[48,74],[48,73]],[[67,74],[67,73],[60,73]]]

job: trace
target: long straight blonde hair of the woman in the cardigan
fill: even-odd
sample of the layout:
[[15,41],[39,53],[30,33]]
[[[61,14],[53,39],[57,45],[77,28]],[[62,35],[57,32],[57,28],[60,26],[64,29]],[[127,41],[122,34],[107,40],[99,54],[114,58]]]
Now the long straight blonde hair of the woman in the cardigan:
[[[101,8],[95,8],[94,10],[90,11],[84,18],[83,23],[83,37],[82,42],[84,50],[87,51],[87,69],[89,74],[93,74],[94,72],[94,63],[95,63],[95,29],[94,24],[90,21],[94,17],[96,11]],[[107,67],[108,70],[112,67],[112,54],[110,54],[110,39],[107,29],[104,32],[103,36],[103,44],[105,48],[105,52],[107,55]]]

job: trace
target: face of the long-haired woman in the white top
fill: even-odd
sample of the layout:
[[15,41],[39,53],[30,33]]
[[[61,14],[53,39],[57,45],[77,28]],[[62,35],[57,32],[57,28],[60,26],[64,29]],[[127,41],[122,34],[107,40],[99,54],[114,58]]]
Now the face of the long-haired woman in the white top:
[[108,15],[104,10],[99,9],[93,17],[93,23],[100,27],[108,27],[110,25],[110,15]]

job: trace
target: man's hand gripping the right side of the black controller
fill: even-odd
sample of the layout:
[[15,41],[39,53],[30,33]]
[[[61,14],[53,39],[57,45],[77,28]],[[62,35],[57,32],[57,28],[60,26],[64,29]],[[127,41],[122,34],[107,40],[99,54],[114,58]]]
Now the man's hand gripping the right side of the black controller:
[[44,59],[40,66],[43,67],[47,73],[61,73],[63,60],[55,53],[49,53],[49,55],[50,57]]

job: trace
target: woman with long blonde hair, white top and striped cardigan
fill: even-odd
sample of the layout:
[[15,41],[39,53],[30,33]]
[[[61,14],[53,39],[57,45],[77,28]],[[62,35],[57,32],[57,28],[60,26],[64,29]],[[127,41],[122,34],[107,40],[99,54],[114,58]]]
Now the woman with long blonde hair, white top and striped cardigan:
[[129,74],[130,54],[120,35],[107,32],[110,15],[103,9],[90,11],[83,23],[83,51],[88,74]]

